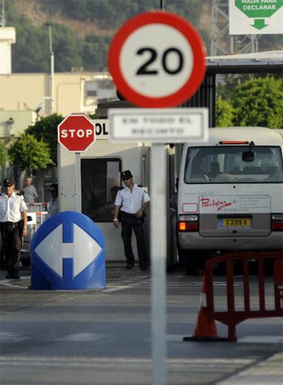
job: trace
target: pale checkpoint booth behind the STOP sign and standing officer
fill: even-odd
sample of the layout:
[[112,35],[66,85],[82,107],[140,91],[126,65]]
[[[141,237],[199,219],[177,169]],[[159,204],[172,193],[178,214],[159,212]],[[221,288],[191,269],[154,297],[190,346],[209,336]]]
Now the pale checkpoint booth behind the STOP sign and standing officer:
[[[124,102],[114,102],[112,105],[128,105]],[[98,114],[105,114],[105,110],[99,109]],[[109,142],[109,121],[103,119],[93,120],[96,129],[96,142],[85,152],[81,153],[81,213],[90,217],[100,228],[105,239],[105,259],[107,262],[124,262],[124,247],[120,229],[113,226],[113,207],[118,189],[123,187],[121,172],[131,170],[133,181],[142,185],[150,194],[149,160],[150,144],[147,143],[111,143]],[[168,202],[170,190],[174,189],[174,183],[170,185],[170,175],[174,172],[172,159],[174,149],[167,146],[167,183]],[[73,211],[76,207],[76,172],[75,153],[68,152],[64,146],[58,145],[59,163],[59,210]],[[174,209],[168,205],[168,213],[171,211],[172,221],[168,225],[168,234],[174,234],[175,217]],[[150,209],[146,213],[144,230],[146,244],[149,243],[149,217]],[[176,263],[176,237],[168,237],[168,265]],[[133,236],[133,252],[137,257],[135,237]]]

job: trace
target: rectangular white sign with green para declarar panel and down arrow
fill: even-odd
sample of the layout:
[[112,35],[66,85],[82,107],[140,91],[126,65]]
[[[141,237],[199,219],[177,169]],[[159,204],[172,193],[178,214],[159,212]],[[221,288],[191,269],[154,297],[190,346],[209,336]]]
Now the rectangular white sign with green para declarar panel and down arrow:
[[282,0],[229,0],[229,34],[283,34],[282,5]]

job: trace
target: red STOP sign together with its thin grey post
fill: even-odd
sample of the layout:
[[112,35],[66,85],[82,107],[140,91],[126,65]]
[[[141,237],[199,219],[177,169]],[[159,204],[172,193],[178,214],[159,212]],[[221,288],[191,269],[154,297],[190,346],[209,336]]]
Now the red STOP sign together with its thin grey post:
[[81,213],[81,152],[95,142],[95,126],[86,115],[74,114],[67,116],[59,124],[57,135],[59,144],[69,152],[75,152],[76,211]]

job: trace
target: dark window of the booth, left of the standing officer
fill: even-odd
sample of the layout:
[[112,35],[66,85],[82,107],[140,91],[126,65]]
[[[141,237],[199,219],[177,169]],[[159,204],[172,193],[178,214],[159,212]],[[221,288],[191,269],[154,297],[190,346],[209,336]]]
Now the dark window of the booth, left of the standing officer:
[[112,222],[121,188],[119,158],[81,159],[81,212],[94,222]]

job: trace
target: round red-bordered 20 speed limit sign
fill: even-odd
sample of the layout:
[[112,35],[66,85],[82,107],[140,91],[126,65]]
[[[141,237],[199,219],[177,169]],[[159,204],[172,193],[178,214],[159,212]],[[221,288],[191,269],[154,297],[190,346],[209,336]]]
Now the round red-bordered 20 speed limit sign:
[[140,107],[174,107],[198,90],[205,47],[196,29],[169,12],[131,18],[114,36],[109,70],[118,91]]

